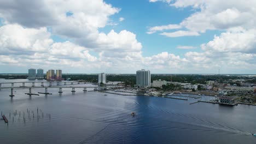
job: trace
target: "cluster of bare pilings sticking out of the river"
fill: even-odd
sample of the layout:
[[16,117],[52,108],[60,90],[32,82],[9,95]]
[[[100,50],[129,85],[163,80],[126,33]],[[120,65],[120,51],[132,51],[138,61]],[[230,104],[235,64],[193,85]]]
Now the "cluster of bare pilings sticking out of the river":
[[[4,115],[3,111],[1,111],[1,116],[3,115]],[[42,119],[44,117],[50,120],[51,114],[46,113],[45,115],[44,111],[39,109],[38,107],[36,110],[27,109],[26,112],[17,111],[17,110],[15,110],[14,112],[9,112],[9,119],[12,119],[13,123],[15,120],[16,122],[24,122],[24,123],[26,123],[26,121],[34,121],[34,120],[37,120],[39,122],[39,119]]]

